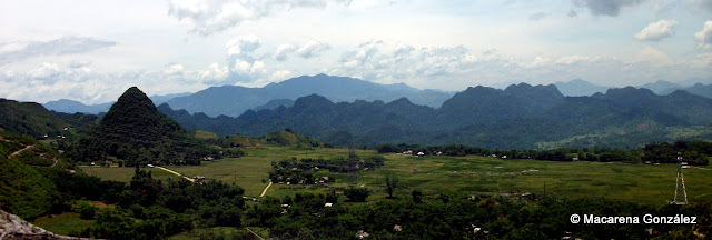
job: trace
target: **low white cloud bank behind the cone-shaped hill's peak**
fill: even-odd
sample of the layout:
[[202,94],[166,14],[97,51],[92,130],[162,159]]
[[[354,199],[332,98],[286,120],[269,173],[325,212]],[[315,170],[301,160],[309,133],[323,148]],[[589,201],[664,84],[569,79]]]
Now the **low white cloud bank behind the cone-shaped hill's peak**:
[[192,92],[224,81],[227,77],[227,68],[217,63],[205,70],[189,70],[180,63],[166,66],[158,71],[99,73],[86,68],[46,62],[33,71],[0,72],[0,82],[3,82],[0,96],[21,101],[72,99],[95,104],[116,101],[132,86],[139,87],[149,96]]

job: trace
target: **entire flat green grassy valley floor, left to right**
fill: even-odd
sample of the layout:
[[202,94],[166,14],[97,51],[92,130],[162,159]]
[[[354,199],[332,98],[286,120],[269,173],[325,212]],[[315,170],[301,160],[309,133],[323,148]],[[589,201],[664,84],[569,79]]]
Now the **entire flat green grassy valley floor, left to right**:
[[[201,166],[171,166],[182,174],[205,176],[227,183],[237,183],[248,197],[257,197],[267,186],[271,161],[289,157],[324,158],[346,157],[347,149],[299,150],[294,148],[260,147],[245,149],[247,156],[204,162]],[[358,150],[357,154],[376,154],[375,151]],[[384,154],[385,166],[376,171],[362,171],[359,184],[374,190],[369,200],[385,198],[385,174],[398,177],[398,194],[418,189],[426,194],[463,193],[497,194],[503,192],[532,192],[563,198],[602,197],[645,204],[665,204],[674,197],[676,167],[673,164],[630,164],[603,162],[553,162],[538,160],[514,160],[488,157],[411,157]],[[705,167],[706,168],[706,167]],[[87,170],[89,169],[89,171]],[[712,169],[712,168],[710,168]],[[535,170],[535,171],[531,171]],[[685,169],[685,184],[690,202],[712,202],[712,170]],[[132,168],[85,168],[85,172],[106,179],[128,181]],[[322,170],[316,177],[336,179],[329,187],[347,187],[347,176]],[[154,170],[157,179],[171,178],[166,172]],[[297,192],[325,193],[328,188],[318,186],[274,184],[267,196],[285,197]]]

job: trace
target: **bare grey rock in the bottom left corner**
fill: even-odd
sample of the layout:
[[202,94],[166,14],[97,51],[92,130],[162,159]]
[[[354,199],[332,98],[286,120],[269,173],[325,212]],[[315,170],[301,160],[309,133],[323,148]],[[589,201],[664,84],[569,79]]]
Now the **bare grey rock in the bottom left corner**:
[[80,240],[82,238],[55,234],[20,219],[20,217],[0,210],[0,240],[4,239]]

